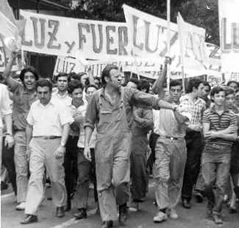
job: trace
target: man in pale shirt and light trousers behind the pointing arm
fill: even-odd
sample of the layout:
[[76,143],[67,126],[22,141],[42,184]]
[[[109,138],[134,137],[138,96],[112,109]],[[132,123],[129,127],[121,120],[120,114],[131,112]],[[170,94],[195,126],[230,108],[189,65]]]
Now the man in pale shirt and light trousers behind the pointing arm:
[[[170,82],[169,94],[165,99],[179,104],[182,85],[179,81]],[[154,222],[177,219],[175,207],[180,199],[183,174],[186,163],[186,122],[191,119],[187,106],[180,105],[175,112],[161,109],[154,112],[154,132],[158,134],[155,147],[156,202],[158,212]]]

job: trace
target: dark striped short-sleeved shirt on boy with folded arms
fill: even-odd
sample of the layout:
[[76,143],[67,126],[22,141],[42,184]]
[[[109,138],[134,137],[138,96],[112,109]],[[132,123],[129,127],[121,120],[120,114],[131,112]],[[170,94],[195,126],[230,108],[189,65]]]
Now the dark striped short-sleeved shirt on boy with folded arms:
[[[229,109],[225,109],[224,112],[219,115],[215,110],[215,106],[212,106],[204,112],[203,123],[210,124],[210,131],[221,131],[227,129],[229,126],[237,125],[237,118],[236,115]],[[209,138],[207,139],[206,143],[215,143],[217,145],[228,146],[231,146],[233,144],[232,141],[228,141],[221,138]]]

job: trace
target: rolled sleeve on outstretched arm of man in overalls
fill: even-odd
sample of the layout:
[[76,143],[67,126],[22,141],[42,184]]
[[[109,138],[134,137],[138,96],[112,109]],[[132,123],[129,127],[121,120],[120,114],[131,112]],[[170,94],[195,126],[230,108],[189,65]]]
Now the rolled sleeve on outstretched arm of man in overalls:
[[160,99],[154,95],[131,88],[125,88],[125,93],[134,106],[149,109],[159,109],[158,102]]

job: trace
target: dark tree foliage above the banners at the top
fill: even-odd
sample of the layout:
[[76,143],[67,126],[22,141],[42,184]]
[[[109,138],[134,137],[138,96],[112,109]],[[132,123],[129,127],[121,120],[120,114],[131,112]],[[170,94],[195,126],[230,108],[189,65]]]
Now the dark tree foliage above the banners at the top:
[[[69,16],[125,22],[123,4],[166,19],[167,0],[80,0]],[[207,42],[219,44],[217,0],[171,0],[171,21],[176,23],[178,12],[186,22],[206,29]]]

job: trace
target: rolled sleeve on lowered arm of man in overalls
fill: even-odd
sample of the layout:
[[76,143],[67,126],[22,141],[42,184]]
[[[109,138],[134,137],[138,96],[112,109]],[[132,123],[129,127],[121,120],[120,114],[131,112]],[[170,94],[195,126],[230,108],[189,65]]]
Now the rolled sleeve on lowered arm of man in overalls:
[[98,119],[98,110],[97,110],[97,100],[99,99],[98,96],[99,96],[98,93],[94,93],[94,95],[92,96],[92,98],[88,103],[85,114],[84,128],[90,127],[91,129],[94,129],[95,127],[95,124]]

